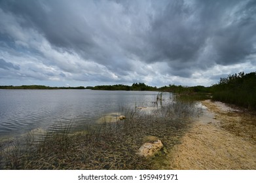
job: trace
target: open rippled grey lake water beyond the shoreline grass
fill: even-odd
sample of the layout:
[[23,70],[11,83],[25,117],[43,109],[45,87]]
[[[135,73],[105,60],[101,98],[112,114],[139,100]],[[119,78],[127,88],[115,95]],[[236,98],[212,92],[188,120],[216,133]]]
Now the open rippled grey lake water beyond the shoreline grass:
[[0,137],[47,129],[54,122],[94,123],[120,107],[152,107],[158,92],[0,90]]

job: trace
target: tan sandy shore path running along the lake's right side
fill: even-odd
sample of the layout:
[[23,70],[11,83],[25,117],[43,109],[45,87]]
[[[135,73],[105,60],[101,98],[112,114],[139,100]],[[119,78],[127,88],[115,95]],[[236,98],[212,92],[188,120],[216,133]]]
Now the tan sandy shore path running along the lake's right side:
[[204,114],[169,154],[170,169],[256,169],[256,118],[220,102]]

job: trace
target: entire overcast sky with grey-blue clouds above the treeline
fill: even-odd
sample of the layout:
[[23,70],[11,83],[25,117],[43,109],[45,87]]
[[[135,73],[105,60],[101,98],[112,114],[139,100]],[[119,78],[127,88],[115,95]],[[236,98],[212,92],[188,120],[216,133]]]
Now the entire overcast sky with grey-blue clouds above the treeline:
[[256,71],[256,1],[0,1],[0,85],[211,86]]

